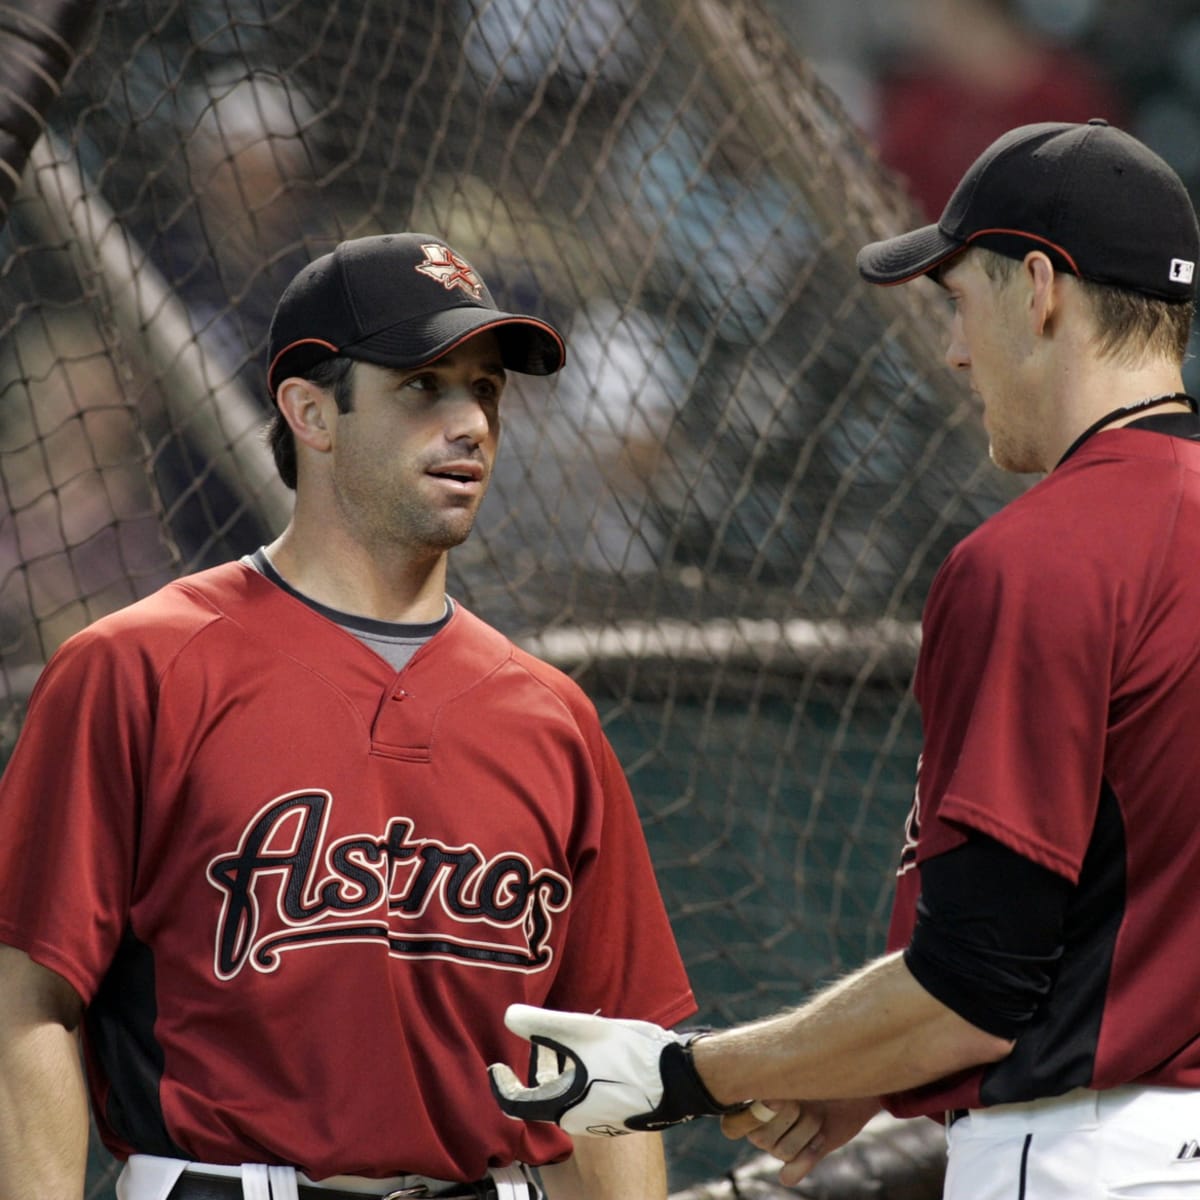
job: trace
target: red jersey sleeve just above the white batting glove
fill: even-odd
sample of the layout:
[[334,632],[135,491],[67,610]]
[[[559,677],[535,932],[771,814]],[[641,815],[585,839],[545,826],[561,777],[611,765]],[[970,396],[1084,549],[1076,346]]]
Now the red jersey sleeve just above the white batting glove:
[[671,1026],[696,1012],[632,794],[599,732],[592,757],[604,797],[598,847],[577,865],[551,1008]]

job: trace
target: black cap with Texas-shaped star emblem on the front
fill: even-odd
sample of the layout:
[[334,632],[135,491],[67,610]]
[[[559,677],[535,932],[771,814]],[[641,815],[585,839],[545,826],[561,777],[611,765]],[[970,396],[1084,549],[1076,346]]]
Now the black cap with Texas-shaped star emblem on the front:
[[440,238],[389,233],[343,241],[287,286],[271,319],[266,388],[346,355],[419,367],[496,331],[510,371],[553,374],[563,337],[536,317],[502,312],[475,269]]

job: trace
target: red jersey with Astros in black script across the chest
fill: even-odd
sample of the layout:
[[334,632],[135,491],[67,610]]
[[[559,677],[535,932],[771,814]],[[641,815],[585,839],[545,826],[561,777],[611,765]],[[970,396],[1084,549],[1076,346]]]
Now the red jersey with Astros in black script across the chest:
[[398,674],[241,564],[67,642],[0,785],[0,941],[88,1003],[107,1145],[478,1178],[508,1004],[695,1012],[624,775],[458,606]]

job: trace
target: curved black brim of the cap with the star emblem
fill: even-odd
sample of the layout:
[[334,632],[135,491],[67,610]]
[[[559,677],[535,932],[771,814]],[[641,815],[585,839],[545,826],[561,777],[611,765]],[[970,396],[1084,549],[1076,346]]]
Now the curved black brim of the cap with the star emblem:
[[486,330],[494,331],[500,344],[500,361],[509,371],[553,374],[566,359],[562,335],[547,322],[473,306],[443,308],[391,325],[343,346],[342,353],[352,359],[403,370],[432,362]]

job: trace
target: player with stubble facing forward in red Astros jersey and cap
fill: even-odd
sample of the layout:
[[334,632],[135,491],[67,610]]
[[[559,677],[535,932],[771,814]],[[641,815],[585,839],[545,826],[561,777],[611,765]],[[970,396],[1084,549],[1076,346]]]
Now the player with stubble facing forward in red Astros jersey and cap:
[[563,356],[433,236],[284,292],[293,520],[64,644],[0,785],[5,1200],[83,1194],[77,1028],[121,1200],[666,1194],[485,1070],[515,1002],[695,1010],[594,708],[445,594],[505,372]]

